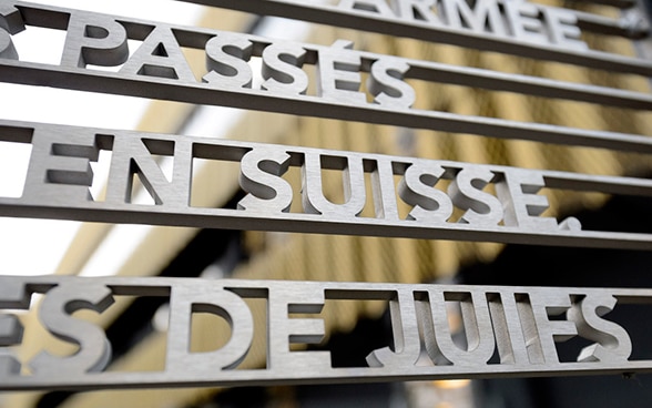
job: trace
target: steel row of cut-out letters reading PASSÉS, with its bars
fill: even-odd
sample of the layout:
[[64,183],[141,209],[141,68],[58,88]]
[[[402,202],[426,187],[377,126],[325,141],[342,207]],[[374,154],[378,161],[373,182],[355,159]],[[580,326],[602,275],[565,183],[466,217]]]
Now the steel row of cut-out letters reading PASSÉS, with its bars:
[[[281,42],[23,2],[4,2],[2,14],[7,18],[0,21],[10,32],[19,32],[26,23],[68,33],[60,65],[13,59],[11,37],[2,33],[0,81],[652,153],[652,137],[643,135],[414,109],[419,95],[406,80],[649,110],[652,96],[645,93],[359,52],[346,41],[332,47]],[[90,28],[105,35],[85,35]],[[128,38],[143,41],[131,55]],[[204,50],[206,72],[193,72],[181,47]],[[263,59],[261,89],[252,88],[254,72],[246,63],[252,57]],[[652,74],[652,65],[642,63]],[[315,78],[302,69],[304,64],[316,65]],[[361,91],[361,72],[369,72],[369,94]],[[317,94],[306,94],[310,80]]]

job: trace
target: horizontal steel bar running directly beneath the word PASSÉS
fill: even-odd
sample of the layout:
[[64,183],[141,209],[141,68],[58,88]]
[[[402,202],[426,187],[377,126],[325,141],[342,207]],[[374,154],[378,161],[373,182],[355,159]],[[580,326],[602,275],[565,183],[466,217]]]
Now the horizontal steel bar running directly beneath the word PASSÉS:
[[271,92],[251,89],[217,89],[201,83],[185,83],[155,76],[124,75],[11,60],[0,60],[0,79],[26,85],[45,85],[444,132],[471,133],[499,139],[652,153],[652,137],[642,135],[437,111],[396,110],[377,104],[358,105],[325,101],[309,95],[275,95]]

